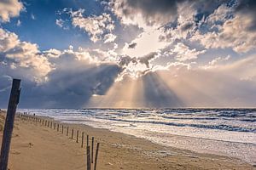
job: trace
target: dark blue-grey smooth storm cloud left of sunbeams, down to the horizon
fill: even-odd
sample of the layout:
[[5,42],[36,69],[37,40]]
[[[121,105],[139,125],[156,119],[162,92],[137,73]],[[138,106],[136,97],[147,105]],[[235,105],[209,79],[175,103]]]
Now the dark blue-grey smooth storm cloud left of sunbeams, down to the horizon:
[[[54,71],[49,82],[38,86],[22,81],[20,108],[82,108],[93,94],[105,94],[118,76],[118,65],[99,65],[79,71]],[[9,78],[0,78],[0,107],[5,108],[9,97]]]

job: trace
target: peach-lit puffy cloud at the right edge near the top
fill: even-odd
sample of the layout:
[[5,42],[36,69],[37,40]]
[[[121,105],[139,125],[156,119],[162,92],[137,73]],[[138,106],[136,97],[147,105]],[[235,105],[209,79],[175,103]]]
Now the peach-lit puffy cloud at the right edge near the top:
[[[192,40],[206,48],[232,48],[237,53],[247,53],[256,45],[256,31],[248,31],[253,18],[237,13],[230,16],[232,8],[220,6],[206,20],[208,31],[196,31]],[[206,32],[206,33],[204,33]]]

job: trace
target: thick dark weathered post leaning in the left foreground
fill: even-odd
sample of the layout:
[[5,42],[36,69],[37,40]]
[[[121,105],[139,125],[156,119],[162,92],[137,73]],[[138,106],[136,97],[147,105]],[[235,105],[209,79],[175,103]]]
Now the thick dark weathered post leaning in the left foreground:
[[21,80],[19,79],[13,80],[11,94],[9,96],[8,110],[3,129],[3,140],[0,156],[0,170],[6,170],[8,166],[9,147],[14,129],[15,113],[17,105],[19,104],[20,100],[20,81]]

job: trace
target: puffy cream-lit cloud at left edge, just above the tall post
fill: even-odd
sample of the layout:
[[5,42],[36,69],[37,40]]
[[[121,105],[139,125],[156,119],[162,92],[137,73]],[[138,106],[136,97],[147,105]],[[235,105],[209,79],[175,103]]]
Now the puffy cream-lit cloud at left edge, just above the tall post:
[[1,72],[7,75],[35,82],[44,82],[52,70],[36,44],[20,42],[15,33],[3,29],[0,29],[0,65]]

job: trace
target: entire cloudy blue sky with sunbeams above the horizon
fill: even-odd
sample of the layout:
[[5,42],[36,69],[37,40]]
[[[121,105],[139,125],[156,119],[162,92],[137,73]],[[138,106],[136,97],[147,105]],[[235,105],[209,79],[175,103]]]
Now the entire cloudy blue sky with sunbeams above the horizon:
[[256,106],[254,0],[0,0],[0,107]]

